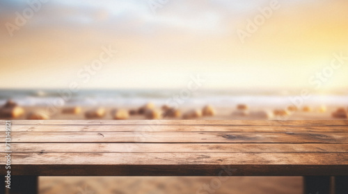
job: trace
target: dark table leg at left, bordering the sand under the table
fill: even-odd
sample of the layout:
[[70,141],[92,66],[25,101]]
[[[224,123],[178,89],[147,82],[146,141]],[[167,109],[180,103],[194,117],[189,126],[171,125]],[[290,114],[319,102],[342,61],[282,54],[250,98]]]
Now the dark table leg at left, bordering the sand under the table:
[[11,176],[11,188],[6,194],[38,194],[37,176]]

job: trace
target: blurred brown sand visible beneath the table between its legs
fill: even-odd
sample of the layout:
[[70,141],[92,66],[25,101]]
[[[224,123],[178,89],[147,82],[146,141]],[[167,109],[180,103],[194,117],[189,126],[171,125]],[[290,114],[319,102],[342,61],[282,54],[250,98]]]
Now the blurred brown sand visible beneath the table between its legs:
[[[40,194],[195,194],[215,177],[40,177]],[[228,177],[217,194],[302,193],[302,177]]]

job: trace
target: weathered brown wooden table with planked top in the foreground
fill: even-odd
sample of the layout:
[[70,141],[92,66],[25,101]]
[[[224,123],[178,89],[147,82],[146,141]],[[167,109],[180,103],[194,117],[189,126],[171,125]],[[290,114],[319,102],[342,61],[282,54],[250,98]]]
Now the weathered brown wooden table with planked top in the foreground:
[[347,120],[12,121],[11,151],[12,193],[37,176],[299,175],[305,193],[348,192]]

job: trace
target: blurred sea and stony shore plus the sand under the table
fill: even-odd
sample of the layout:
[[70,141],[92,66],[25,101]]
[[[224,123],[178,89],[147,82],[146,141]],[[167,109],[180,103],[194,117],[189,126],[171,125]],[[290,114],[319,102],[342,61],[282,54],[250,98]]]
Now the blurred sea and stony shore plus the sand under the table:
[[[299,90],[181,91],[3,89],[0,104],[22,109],[10,119],[347,119],[347,91],[308,98],[296,95]],[[212,178],[40,177],[40,193],[199,193]],[[302,184],[302,177],[229,177],[215,193],[295,194]]]

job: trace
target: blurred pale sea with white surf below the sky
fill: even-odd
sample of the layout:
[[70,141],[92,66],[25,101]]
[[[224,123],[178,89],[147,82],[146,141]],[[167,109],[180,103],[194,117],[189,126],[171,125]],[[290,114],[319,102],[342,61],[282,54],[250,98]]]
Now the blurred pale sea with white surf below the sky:
[[[301,97],[301,89],[293,90],[198,90],[184,89],[85,89],[66,92],[61,89],[0,89],[0,104],[13,99],[22,106],[45,105],[123,105],[138,106],[152,102],[156,105],[173,104],[218,107],[246,103],[255,106],[278,107],[293,102],[302,105],[348,105],[348,89],[319,94],[310,92],[309,98]],[[291,100],[292,99],[292,100]],[[294,100],[296,99],[296,100]]]

